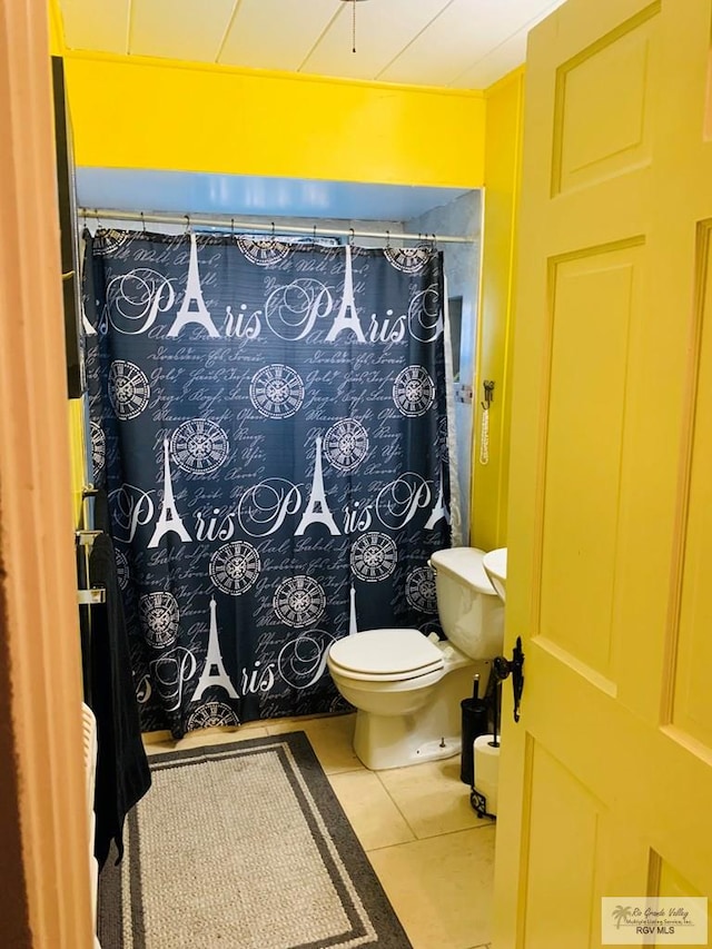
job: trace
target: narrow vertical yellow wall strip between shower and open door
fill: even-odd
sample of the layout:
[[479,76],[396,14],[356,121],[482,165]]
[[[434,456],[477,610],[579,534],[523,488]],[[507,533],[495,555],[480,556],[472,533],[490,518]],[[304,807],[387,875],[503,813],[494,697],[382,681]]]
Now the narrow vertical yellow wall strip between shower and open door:
[[[485,212],[473,451],[471,542],[484,550],[506,544],[507,478],[516,217],[521,187],[524,69],[486,93]],[[490,409],[490,463],[479,463],[483,382],[495,383]]]

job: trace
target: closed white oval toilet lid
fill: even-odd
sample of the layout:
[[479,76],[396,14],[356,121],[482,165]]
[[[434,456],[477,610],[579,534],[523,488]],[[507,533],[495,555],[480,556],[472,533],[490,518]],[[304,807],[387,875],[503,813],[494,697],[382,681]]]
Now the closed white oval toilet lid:
[[340,669],[368,675],[424,675],[444,665],[443,653],[418,630],[368,630],[345,636],[329,650]]

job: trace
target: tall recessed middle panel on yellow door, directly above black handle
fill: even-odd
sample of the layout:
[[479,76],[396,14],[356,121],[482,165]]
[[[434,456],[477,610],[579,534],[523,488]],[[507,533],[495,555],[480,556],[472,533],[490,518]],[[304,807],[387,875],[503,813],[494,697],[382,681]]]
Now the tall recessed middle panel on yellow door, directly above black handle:
[[538,629],[606,679],[612,676],[614,635],[615,573],[610,565],[617,550],[629,339],[632,325],[642,318],[635,294],[642,253],[637,246],[586,250],[550,268],[552,356],[545,379]]

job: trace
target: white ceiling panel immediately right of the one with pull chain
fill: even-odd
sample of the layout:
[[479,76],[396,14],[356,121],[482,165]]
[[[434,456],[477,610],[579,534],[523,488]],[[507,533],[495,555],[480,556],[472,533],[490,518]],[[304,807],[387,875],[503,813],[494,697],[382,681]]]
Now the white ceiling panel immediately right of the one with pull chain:
[[449,86],[550,3],[551,0],[518,0],[517,3],[453,0],[378,78],[388,82]]

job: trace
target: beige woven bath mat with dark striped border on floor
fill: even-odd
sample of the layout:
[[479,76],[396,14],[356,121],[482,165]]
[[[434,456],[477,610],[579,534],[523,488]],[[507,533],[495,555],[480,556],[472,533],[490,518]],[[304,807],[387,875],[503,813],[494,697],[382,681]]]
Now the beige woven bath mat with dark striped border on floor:
[[304,732],[150,763],[101,949],[412,949]]

